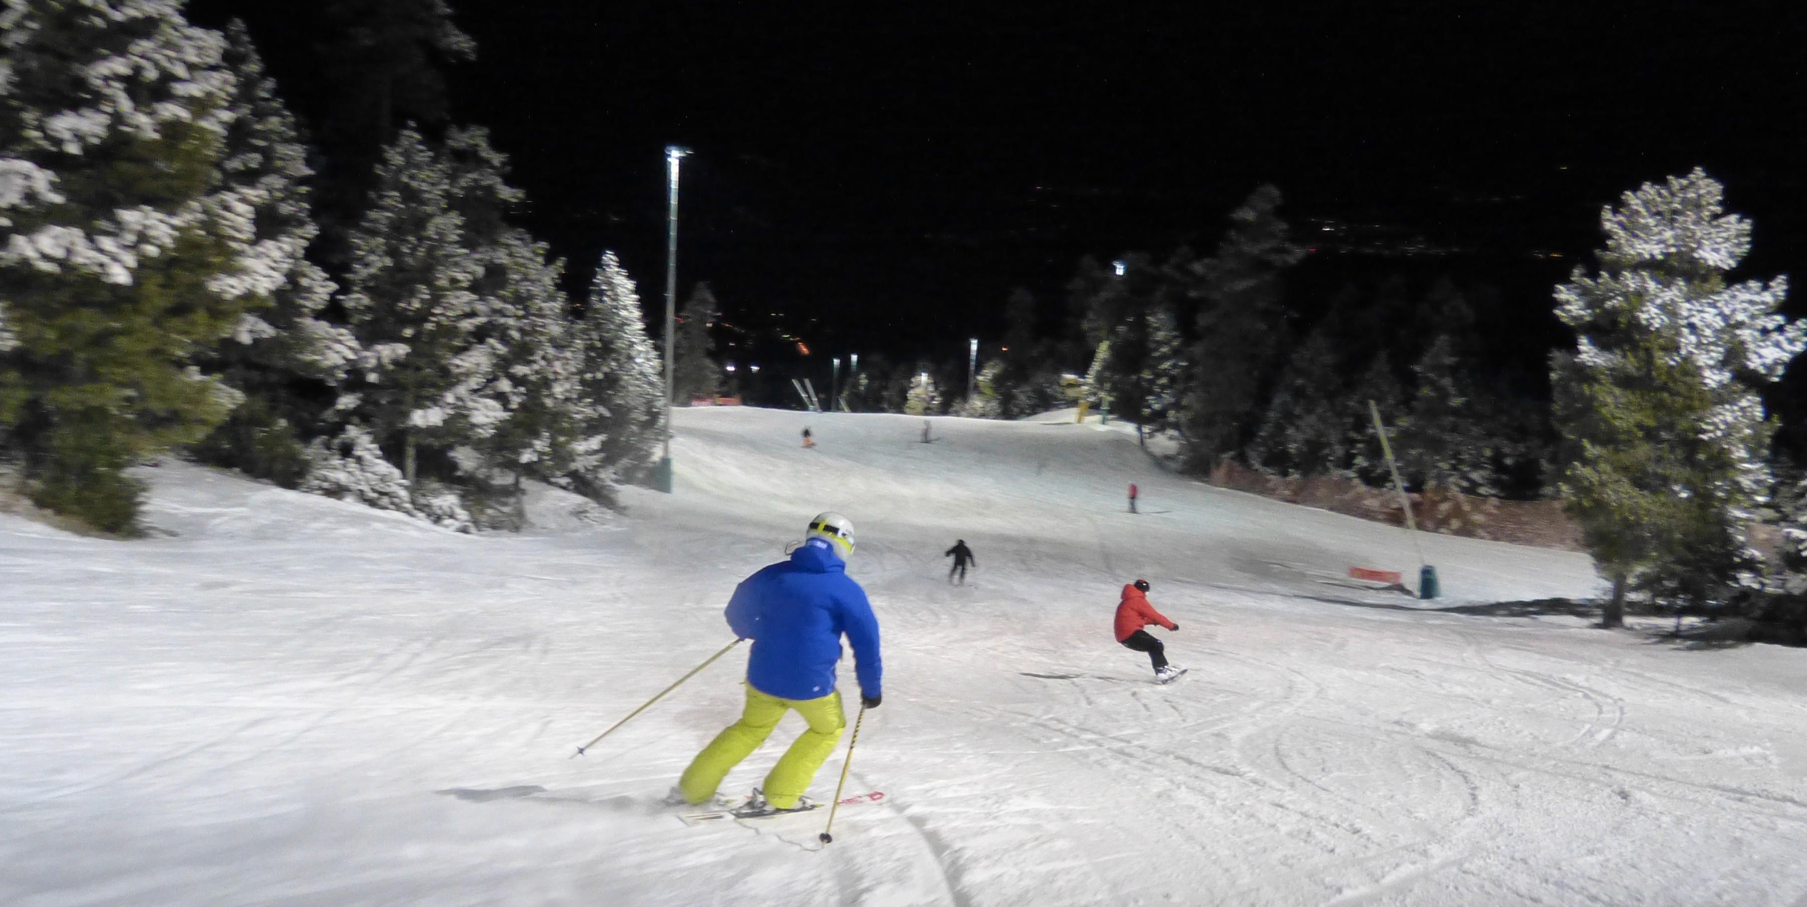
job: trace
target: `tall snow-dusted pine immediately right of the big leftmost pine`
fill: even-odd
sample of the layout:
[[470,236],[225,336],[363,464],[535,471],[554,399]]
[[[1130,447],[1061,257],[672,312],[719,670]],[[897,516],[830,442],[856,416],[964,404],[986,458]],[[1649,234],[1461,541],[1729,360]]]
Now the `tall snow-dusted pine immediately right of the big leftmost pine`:
[[358,360],[351,331],[323,318],[336,285],[305,258],[320,228],[309,208],[307,152],[295,116],[251,45],[244,23],[226,29],[226,63],[237,74],[233,123],[226,130],[220,192],[253,210],[253,260],[276,284],[269,307],[246,313],[206,361],[246,394],[244,405],[195,446],[202,459],[295,488],[307,461],[302,444],[318,434],[329,387]]

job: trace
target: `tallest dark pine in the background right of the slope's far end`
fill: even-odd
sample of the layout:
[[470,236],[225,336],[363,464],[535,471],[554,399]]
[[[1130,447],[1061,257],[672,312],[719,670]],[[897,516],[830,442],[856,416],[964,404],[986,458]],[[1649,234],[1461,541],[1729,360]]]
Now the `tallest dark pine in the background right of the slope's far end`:
[[1254,190],[1231,213],[1216,253],[1191,267],[1200,314],[1182,454],[1193,470],[1247,448],[1283,365],[1292,311],[1281,273],[1305,249],[1292,242],[1279,204],[1278,188]]

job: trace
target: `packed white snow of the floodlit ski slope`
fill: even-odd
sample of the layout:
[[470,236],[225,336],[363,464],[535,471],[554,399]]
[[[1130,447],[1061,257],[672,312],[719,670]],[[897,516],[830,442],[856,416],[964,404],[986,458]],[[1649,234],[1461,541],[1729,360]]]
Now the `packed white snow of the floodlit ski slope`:
[[[146,540],[0,517],[0,903],[1807,903],[1807,652],[1529,603],[1599,591],[1561,551],[1426,537],[1444,600],[1355,589],[1415,573],[1400,529],[1102,426],[934,434],[685,410],[676,495],[542,488],[522,535],[181,463],[143,470]],[[884,627],[847,779],[884,802],[828,847],[822,813],[658,804],[744,649],[569,759],[732,641],[734,584],[820,510]],[[1173,685],[1111,638],[1137,576]]]

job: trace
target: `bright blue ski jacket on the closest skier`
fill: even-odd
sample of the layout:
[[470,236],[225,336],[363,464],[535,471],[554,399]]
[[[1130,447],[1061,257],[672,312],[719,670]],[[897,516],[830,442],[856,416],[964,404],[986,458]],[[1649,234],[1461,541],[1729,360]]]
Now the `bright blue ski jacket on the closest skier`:
[[866,589],[820,538],[748,576],[728,600],[728,627],[754,641],[746,683],[779,699],[820,699],[835,692],[840,634],[853,643],[860,694],[882,696],[878,618]]

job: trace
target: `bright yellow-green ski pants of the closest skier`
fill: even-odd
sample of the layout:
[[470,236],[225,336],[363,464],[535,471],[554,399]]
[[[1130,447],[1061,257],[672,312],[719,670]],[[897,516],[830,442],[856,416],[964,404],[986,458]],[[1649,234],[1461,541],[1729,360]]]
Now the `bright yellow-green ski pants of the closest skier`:
[[683,777],[678,779],[685,799],[698,804],[714,797],[721,779],[741,764],[741,759],[766,743],[772,728],[779,726],[779,719],[790,708],[795,708],[810,723],[810,730],[802,732],[802,737],[797,737],[790,750],[784,750],[784,757],[772,766],[761,790],[766,802],[779,809],[797,806],[797,797],[810,790],[815,771],[828,761],[828,753],[835,752],[840,732],[847,730],[847,715],[840,710],[840,690],[820,699],[779,699],[748,683],[746,710],[741,712],[741,719],[728,725],[703,752],[696,753],[690,768],[683,770]]

